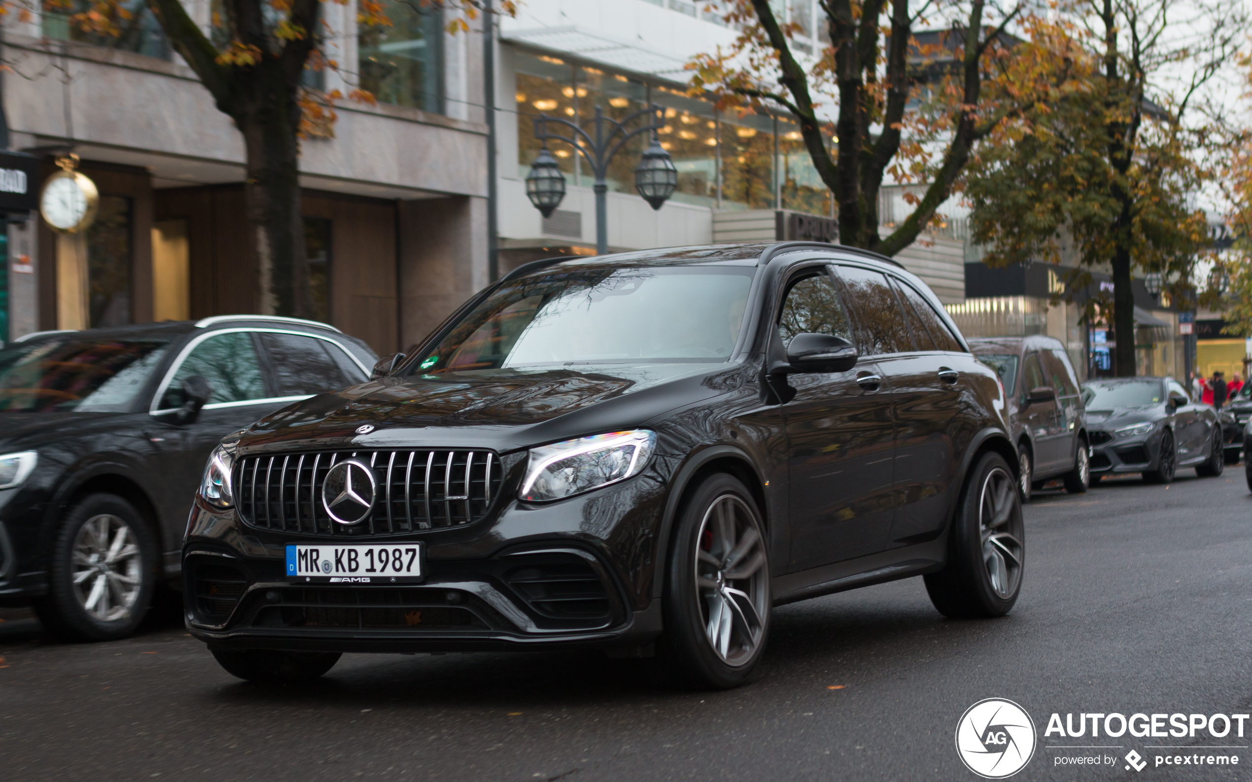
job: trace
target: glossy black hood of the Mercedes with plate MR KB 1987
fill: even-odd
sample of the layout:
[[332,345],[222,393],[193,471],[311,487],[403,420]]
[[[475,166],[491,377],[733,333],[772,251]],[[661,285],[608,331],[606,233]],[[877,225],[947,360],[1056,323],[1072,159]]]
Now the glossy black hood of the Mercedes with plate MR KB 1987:
[[[283,408],[253,424],[240,447],[505,452],[640,425],[737,387],[741,374],[740,364],[646,364],[382,378]],[[373,430],[357,434],[364,424]]]

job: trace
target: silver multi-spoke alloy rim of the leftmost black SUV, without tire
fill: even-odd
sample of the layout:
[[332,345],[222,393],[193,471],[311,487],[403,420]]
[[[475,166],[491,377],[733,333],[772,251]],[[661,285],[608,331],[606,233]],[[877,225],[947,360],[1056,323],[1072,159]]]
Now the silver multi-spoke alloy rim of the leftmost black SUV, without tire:
[[130,616],[143,587],[139,542],[121,518],[94,515],[74,538],[74,596],[93,618],[115,622]]

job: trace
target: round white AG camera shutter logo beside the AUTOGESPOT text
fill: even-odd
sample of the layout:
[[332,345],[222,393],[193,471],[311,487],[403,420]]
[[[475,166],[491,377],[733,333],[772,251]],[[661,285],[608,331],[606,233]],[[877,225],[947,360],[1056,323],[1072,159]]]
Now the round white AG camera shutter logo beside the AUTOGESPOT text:
[[957,722],[957,753],[965,767],[987,779],[1012,777],[1025,768],[1034,747],[1034,721],[1013,701],[979,701]]

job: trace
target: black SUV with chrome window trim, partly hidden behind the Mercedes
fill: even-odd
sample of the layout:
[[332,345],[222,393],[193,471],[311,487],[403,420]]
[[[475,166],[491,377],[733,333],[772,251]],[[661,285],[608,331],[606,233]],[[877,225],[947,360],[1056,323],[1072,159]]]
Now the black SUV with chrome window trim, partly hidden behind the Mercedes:
[[179,574],[204,462],[229,432],[367,378],[319,323],[230,315],[31,334],[0,350],[0,603],[119,638]]

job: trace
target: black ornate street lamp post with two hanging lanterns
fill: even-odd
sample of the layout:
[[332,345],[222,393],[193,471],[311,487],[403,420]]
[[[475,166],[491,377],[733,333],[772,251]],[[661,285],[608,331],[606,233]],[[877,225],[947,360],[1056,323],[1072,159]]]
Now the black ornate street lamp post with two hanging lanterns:
[[[629,124],[642,116],[649,118],[646,124],[635,130],[626,129]],[[568,128],[570,135],[560,131],[548,133],[548,123]],[[605,196],[608,193],[608,164],[629,140],[641,133],[652,135],[652,143],[635,169],[635,189],[644,196],[644,200],[652,205],[652,209],[660,209],[677,188],[679,171],[670,159],[670,153],[661,148],[661,141],[656,135],[656,131],[664,126],[665,109],[656,104],[636,111],[621,121],[605,116],[603,109],[596,106],[593,135],[570,120],[540,114],[535,118],[535,138],[543,143],[543,149],[540,150],[538,158],[531,164],[531,173],[526,176],[527,198],[545,218],[551,216],[552,210],[565,198],[565,174],[561,173],[556,159],[548,153],[547,143],[550,140],[565,141],[572,146],[587,159],[587,164],[596,176],[596,184],[592,188],[596,193],[596,253],[603,255],[608,251],[608,216]]]

